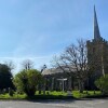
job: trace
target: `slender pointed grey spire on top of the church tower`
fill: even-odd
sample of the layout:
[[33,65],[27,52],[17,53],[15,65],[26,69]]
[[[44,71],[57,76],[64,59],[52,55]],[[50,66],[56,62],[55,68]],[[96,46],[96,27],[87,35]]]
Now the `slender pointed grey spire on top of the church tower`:
[[99,33],[99,27],[98,27],[95,5],[94,5],[94,39],[95,40],[100,39],[100,33]]

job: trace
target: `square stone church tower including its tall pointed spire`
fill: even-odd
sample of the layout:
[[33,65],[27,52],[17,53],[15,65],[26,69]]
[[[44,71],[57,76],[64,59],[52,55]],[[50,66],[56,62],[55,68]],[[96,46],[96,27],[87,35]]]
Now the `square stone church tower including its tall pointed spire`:
[[94,6],[94,36],[86,42],[87,62],[95,78],[108,73],[108,41],[100,37],[96,10]]

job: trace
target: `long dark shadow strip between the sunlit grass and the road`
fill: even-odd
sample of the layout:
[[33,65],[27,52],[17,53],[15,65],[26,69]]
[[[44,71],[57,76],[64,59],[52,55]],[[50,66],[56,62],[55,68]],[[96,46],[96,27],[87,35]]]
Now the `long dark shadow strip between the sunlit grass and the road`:
[[32,103],[73,103],[76,100],[94,100],[94,99],[107,99],[108,95],[95,95],[86,96],[82,98],[75,98],[73,96],[54,96],[54,95],[35,95],[33,97],[26,97],[25,99]]

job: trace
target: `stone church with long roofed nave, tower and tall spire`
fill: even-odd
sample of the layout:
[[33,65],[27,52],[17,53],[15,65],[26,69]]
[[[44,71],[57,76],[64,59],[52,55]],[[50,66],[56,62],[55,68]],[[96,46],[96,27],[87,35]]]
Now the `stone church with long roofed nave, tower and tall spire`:
[[[94,90],[94,81],[108,73],[108,41],[99,32],[96,10],[94,6],[94,38],[86,41],[87,64],[93,75],[89,78],[89,89]],[[51,91],[79,90],[77,80],[70,73],[59,68],[44,69],[42,75],[46,79],[45,89]],[[85,83],[86,83],[85,82]],[[63,90],[64,87],[64,90]]]

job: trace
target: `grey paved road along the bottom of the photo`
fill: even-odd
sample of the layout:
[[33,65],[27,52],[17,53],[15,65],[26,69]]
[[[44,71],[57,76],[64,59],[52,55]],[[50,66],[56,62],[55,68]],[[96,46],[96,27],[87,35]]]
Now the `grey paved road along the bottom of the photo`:
[[108,99],[17,102],[0,100],[0,108],[108,108]]

